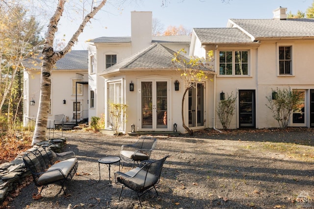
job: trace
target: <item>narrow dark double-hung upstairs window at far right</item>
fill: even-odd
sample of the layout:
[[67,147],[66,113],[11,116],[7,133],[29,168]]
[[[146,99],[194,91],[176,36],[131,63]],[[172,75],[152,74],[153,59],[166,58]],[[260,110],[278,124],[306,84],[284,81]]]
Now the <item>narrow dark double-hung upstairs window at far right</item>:
[[291,46],[279,46],[279,74],[292,73]]

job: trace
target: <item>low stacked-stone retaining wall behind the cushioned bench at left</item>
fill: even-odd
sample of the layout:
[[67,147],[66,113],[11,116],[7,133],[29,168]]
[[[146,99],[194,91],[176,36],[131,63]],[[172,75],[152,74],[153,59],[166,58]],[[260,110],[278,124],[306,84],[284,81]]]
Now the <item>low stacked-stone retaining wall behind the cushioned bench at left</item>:
[[54,152],[59,153],[65,143],[65,138],[42,141],[25,152],[20,153],[13,161],[0,164],[0,203],[3,202],[8,192],[14,190],[16,186],[22,183],[27,176],[31,175],[23,162],[23,157],[29,151],[40,146],[48,146]]

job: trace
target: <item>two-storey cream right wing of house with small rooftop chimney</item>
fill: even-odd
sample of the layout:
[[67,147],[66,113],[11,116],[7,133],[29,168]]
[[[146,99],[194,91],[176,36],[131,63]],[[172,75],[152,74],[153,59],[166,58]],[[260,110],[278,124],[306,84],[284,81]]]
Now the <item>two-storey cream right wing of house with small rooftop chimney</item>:
[[[293,110],[289,126],[314,126],[314,20],[287,19],[286,13],[287,8],[280,7],[273,19],[230,19],[226,28],[193,29],[190,55],[204,56],[209,50],[215,54],[216,76],[209,98],[237,93],[230,128],[278,127],[266,107],[266,96],[276,88],[302,92],[303,100]],[[218,102],[210,109],[215,110]],[[217,120],[211,124],[221,128]]]

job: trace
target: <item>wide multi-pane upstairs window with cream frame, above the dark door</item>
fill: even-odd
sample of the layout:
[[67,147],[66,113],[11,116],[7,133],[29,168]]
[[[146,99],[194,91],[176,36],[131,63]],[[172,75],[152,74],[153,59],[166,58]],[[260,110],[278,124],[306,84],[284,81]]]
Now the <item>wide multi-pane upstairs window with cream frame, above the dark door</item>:
[[248,75],[248,51],[219,51],[219,75]]

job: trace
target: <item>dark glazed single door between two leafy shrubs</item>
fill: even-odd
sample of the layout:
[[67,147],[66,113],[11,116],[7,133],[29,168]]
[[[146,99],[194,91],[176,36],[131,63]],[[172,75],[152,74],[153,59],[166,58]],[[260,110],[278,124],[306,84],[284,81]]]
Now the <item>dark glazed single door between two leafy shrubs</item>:
[[239,90],[239,127],[255,128],[255,90]]

